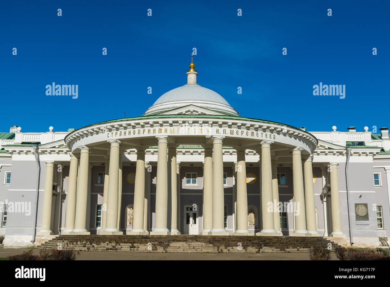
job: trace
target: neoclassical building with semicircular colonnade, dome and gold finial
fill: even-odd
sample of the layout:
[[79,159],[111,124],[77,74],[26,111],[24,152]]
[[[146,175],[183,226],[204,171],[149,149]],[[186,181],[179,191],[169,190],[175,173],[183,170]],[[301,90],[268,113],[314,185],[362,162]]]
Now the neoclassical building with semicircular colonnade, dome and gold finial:
[[325,236],[388,244],[390,140],[246,118],[187,83],[140,117],[0,133],[5,246],[58,234]]

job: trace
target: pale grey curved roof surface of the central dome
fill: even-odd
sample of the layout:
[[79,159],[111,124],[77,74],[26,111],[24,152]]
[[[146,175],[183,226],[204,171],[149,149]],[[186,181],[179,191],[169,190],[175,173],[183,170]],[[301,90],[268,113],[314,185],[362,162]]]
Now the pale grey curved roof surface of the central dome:
[[209,101],[230,106],[220,94],[196,84],[187,84],[166,92],[154,102],[153,106],[183,100]]

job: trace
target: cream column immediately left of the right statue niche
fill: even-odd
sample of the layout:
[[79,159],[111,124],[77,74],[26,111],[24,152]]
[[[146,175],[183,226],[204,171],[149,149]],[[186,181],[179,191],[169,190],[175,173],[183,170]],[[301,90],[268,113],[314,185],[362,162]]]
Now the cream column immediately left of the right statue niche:
[[248,229],[245,148],[237,148],[237,230],[233,235],[253,235]]

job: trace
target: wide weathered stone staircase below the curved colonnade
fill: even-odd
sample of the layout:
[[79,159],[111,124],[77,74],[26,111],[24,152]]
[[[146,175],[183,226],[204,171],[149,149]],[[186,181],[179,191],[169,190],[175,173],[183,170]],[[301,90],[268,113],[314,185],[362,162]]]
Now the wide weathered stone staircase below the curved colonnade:
[[312,247],[339,246],[324,237],[199,235],[60,235],[37,248],[80,251],[262,253],[307,252]]

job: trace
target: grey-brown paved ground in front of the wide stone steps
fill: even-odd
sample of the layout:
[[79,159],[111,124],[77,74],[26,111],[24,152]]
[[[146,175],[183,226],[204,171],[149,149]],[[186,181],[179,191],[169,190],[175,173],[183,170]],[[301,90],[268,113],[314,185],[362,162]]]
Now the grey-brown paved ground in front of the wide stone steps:
[[[21,254],[29,248],[0,247],[0,257]],[[33,250],[39,254],[39,249]],[[126,251],[80,251],[77,260],[309,260],[308,252],[277,253],[145,253]],[[332,260],[337,260],[332,252]]]

